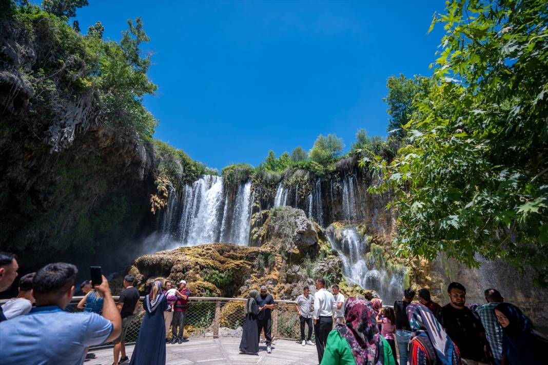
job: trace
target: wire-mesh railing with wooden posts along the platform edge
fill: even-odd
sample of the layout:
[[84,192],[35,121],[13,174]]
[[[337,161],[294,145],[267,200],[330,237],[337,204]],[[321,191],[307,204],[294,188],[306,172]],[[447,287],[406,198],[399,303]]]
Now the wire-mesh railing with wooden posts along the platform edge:
[[[119,297],[113,297],[118,301]],[[65,311],[78,312],[78,302],[82,297],[73,297]],[[144,297],[139,301],[142,303]],[[3,304],[4,300],[0,300]],[[272,309],[272,338],[297,340],[300,339],[300,320],[292,300],[274,300],[276,308]],[[244,306],[246,299],[242,298],[210,298],[190,297],[187,308],[184,337],[189,338],[222,338],[241,337],[244,322]],[[131,344],[137,340],[141,321],[144,316],[142,305],[139,306],[132,323],[128,327],[125,343]],[[305,326],[305,334],[308,328]],[[172,337],[171,329],[168,338]],[[313,336],[313,334],[312,334]],[[112,346],[105,343],[97,347]]]

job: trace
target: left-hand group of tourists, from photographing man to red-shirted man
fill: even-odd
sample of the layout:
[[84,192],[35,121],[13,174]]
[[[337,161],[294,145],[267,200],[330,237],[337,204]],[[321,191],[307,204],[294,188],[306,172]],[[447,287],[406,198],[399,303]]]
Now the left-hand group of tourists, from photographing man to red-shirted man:
[[[14,254],[0,252],[0,292],[12,286],[18,269]],[[172,344],[187,341],[183,333],[190,291],[184,280],[177,289],[169,281],[153,283],[142,301],[145,315],[130,360],[125,338],[140,305],[135,277],[124,277],[117,303],[105,276],[100,285],[85,280],[80,285],[84,297],[77,304],[82,312],[71,313],[66,308],[77,274],[75,265],[53,263],[20,278],[17,297],[0,306],[2,364],[83,364],[90,346],[112,342],[113,365],[164,365],[169,328]]]

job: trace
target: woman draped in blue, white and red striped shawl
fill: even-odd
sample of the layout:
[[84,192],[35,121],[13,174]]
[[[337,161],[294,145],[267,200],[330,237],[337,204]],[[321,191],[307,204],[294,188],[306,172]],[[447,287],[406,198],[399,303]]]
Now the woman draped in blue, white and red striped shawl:
[[409,304],[406,310],[412,332],[409,364],[460,365],[459,350],[432,311],[419,303]]

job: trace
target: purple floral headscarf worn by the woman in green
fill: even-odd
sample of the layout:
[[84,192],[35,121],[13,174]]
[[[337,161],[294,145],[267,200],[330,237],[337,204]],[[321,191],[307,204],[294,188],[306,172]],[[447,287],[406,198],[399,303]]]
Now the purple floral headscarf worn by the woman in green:
[[346,299],[345,325],[337,325],[339,334],[346,339],[356,365],[382,365],[383,340],[379,335],[373,306],[365,298]]

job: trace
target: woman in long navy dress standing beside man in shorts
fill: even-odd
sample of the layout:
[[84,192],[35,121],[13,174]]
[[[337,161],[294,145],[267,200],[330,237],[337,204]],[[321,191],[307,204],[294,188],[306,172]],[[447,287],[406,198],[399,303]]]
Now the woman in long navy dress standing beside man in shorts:
[[164,310],[167,303],[162,293],[162,282],[157,280],[143,301],[145,316],[133,350],[132,365],[165,365]]

